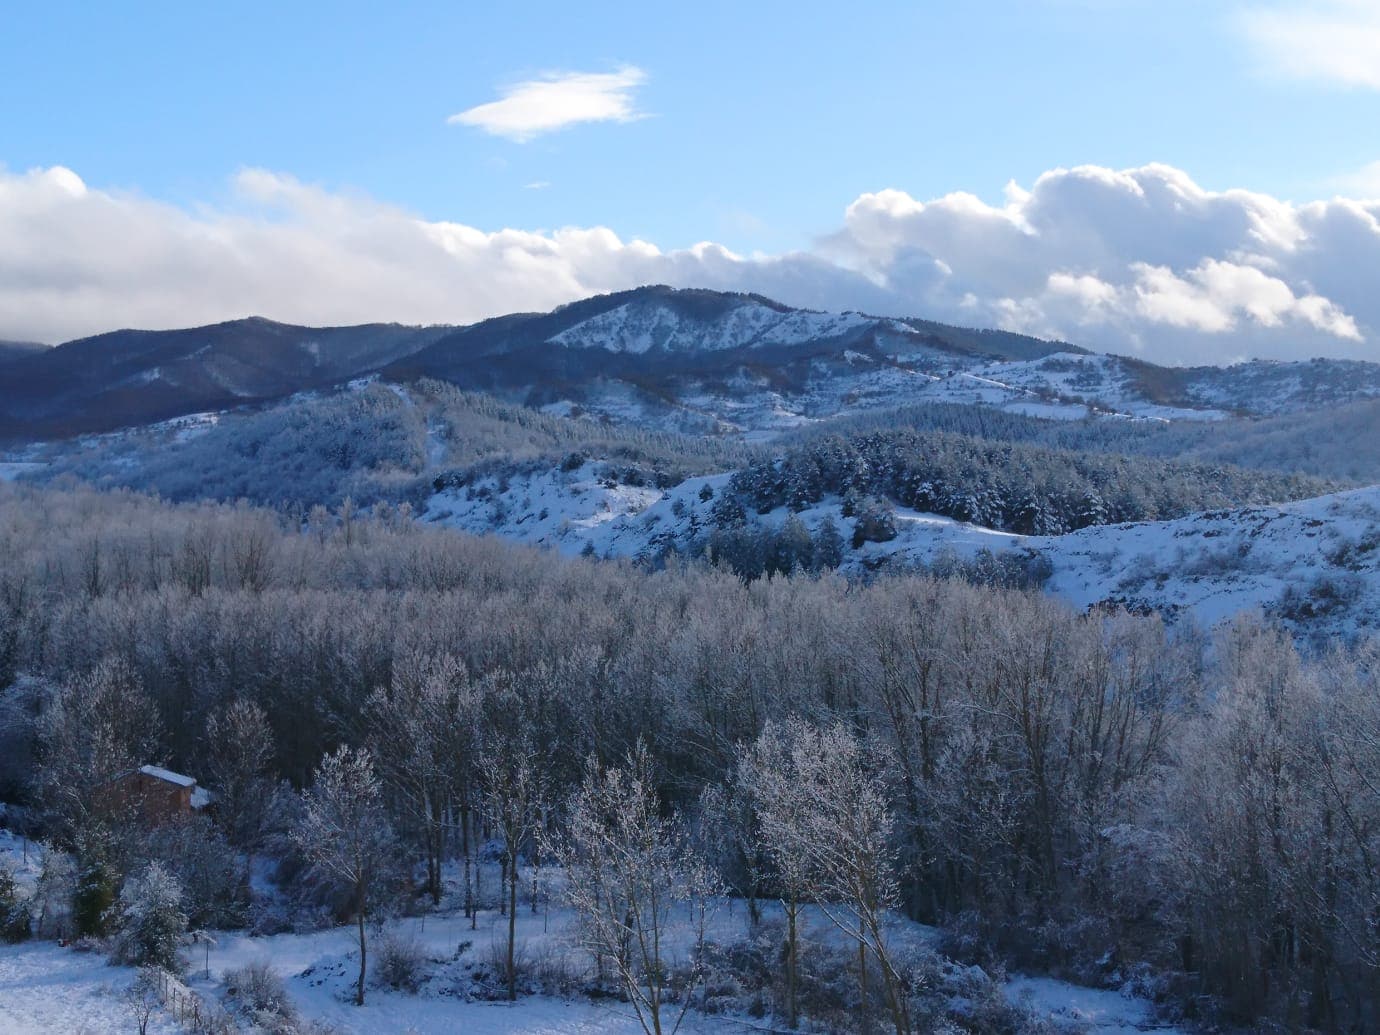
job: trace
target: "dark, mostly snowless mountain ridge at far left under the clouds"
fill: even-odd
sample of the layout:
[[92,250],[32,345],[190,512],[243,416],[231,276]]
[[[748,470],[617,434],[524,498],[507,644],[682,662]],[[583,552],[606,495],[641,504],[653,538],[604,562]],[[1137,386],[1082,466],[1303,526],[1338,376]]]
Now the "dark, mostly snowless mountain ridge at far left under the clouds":
[[0,439],[62,437],[282,399],[375,371],[435,328],[294,327],[259,317],[121,330],[21,351],[0,381]]

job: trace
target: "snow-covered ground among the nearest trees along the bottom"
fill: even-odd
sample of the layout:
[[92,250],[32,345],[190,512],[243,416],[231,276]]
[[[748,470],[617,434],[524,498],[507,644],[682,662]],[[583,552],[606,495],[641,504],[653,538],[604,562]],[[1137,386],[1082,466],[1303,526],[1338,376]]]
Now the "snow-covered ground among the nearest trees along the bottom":
[[[32,889],[40,865],[40,851],[0,831],[0,860],[18,871],[21,886]],[[370,987],[364,1006],[352,1002],[357,974],[357,943],[352,926],[310,933],[251,937],[243,931],[214,933],[210,956],[204,948],[188,948],[185,985],[207,1003],[226,1003],[228,972],[253,963],[266,963],[286,985],[304,1023],[339,1035],[638,1035],[642,1027],[632,1007],[615,1000],[523,995],[516,1003],[495,998],[491,985],[495,954],[506,944],[506,918],[497,911],[480,911],[472,926],[454,908],[451,897],[437,912],[402,918],[386,925],[386,937],[414,945],[425,958],[425,980],[415,994]],[[767,922],[780,920],[780,909],[765,908]],[[747,911],[741,903],[724,900],[708,925],[709,941],[727,944],[744,937]],[[937,931],[897,919],[890,941],[916,949],[934,943]],[[807,909],[802,937],[817,944],[845,947],[845,938],[820,912]],[[378,954],[384,937],[371,933],[370,951]],[[672,958],[684,958],[691,944],[689,923],[671,930]],[[584,952],[575,944],[574,916],[569,909],[541,903],[531,912],[530,900],[519,901],[518,955],[529,967],[551,969],[555,963],[580,966]],[[486,969],[487,967],[487,969]],[[962,969],[960,969],[962,970]],[[0,1032],[4,1035],[105,1035],[137,1031],[134,1014],[123,995],[135,978],[130,967],[112,966],[99,951],[59,947],[51,941],[29,941],[0,947]],[[1023,1005],[1038,1017],[1047,1017],[1057,1031],[1087,1035],[1125,1035],[1155,1031],[1174,1035],[1173,1028],[1156,1027],[1150,1003],[1115,989],[1081,988],[1039,977],[1014,977],[1005,988],[1012,1003]],[[182,1031],[164,1010],[149,1024],[152,1035]],[[253,1031],[251,1027],[241,1027]],[[680,1028],[686,1035],[727,1035],[760,1031],[762,1024],[744,1016],[707,1016],[691,1010]]]

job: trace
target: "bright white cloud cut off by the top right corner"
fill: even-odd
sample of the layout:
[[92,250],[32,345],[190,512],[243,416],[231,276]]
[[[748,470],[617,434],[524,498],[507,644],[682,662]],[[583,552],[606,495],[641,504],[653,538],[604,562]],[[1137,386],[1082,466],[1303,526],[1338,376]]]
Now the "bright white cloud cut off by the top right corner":
[[1271,73],[1380,90],[1380,3],[1252,4],[1239,23]]

